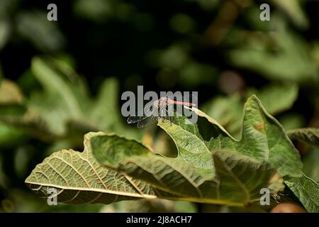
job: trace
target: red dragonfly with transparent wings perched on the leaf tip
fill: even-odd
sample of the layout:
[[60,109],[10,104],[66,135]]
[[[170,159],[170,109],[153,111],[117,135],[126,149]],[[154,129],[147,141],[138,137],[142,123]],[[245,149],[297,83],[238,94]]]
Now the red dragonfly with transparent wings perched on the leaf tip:
[[[192,98],[194,99],[194,96],[192,96]],[[179,99],[176,100],[170,96],[163,96],[154,101],[143,116],[129,116],[127,122],[130,124],[137,123],[138,128],[145,128],[146,126],[157,123],[159,118],[162,118],[162,122],[164,122],[165,119],[169,119],[172,126],[172,111],[174,105],[196,106],[196,104],[192,102],[179,101]]]

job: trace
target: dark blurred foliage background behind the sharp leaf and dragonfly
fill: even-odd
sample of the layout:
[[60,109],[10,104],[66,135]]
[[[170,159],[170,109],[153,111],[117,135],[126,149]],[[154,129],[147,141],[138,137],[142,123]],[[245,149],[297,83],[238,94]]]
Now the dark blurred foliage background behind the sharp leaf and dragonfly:
[[[57,21],[47,21],[50,3]],[[263,3],[270,21],[259,19]],[[138,85],[198,91],[199,109],[237,137],[251,94],[286,130],[319,127],[318,10],[314,0],[0,0],[0,210],[130,211],[130,202],[49,207],[24,179],[56,150],[81,151],[89,131],[169,155],[176,148],[167,135],[121,116],[122,92]],[[296,146],[319,181],[317,148]]]

